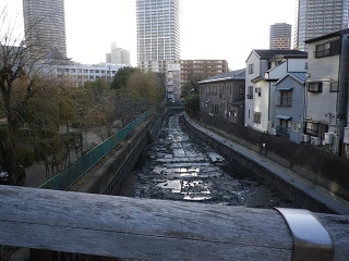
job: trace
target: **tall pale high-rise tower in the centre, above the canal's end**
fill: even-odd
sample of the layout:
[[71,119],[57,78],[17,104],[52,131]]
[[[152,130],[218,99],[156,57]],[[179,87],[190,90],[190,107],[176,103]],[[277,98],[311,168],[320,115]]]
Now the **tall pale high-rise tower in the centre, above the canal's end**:
[[136,0],[137,63],[144,71],[166,72],[180,59],[179,0]]

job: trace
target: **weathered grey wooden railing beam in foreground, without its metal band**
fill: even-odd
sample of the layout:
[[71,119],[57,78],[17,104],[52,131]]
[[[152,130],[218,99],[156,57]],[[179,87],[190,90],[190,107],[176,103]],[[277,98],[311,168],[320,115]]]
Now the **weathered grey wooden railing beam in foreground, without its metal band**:
[[[315,216],[333,260],[348,260],[349,216]],[[10,186],[0,186],[0,245],[136,260],[294,260],[275,209]]]

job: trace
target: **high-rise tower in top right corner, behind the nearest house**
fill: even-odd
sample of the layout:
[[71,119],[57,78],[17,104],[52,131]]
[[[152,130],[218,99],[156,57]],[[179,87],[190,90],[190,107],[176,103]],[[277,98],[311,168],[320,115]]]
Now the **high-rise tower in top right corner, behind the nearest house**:
[[305,50],[304,41],[348,27],[349,0],[297,0],[298,21],[294,47]]

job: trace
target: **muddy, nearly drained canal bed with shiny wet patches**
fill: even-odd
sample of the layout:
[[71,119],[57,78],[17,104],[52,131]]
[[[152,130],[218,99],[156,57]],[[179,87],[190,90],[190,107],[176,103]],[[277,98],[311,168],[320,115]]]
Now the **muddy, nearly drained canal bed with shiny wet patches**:
[[171,115],[157,139],[143,151],[121,195],[248,208],[298,208],[253,176],[239,162],[226,161],[195,137],[181,124],[180,115]]

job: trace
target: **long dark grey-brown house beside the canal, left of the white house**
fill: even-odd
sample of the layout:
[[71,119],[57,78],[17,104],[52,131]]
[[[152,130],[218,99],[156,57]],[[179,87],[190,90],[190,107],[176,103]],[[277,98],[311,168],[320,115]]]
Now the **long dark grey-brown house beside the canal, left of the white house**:
[[200,111],[243,125],[244,78],[242,69],[198,82]]

